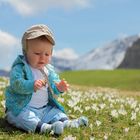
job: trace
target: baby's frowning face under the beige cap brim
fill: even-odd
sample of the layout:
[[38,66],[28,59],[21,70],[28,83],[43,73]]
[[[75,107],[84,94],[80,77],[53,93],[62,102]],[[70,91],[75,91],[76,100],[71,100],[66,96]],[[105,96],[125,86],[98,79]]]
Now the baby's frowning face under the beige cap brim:
[[28,63],[37,69],[50,62],[53,45],[47,40],[33,39],[27,41],[26,58]]

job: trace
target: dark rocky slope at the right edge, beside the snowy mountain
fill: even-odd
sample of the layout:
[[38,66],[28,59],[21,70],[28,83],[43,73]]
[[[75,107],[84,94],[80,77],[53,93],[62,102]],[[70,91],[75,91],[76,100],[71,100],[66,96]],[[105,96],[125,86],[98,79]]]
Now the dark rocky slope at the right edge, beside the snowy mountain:
[[127,49],[124,60],[118,68],[140,68],[140,39]]

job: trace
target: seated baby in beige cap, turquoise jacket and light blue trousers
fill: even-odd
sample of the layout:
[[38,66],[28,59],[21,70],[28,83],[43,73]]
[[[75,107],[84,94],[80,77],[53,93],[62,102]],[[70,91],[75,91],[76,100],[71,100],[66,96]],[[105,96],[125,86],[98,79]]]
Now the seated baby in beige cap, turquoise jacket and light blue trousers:
[[60,135],[66,127],[87,126],[84,116],[70,120],[56,96],[68,90],[50,64],[55,40],[43,24],[27,29],[22,37],[23,55],[14,61],[6,88],[6,119],[27,132]]

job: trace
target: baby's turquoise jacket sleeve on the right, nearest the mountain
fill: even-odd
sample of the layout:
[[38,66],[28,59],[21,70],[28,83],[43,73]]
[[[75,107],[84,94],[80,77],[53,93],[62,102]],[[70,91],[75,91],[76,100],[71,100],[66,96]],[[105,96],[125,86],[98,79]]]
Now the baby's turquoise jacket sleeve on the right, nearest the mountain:
[[54,67],[52,65],[49,65],[49,67],[47,67],[49,69],[49,82],[51,85],[51,88],[54,91],[54,94],[59,95],[62,94],[63,92],[60,92],[57,87],[56,84],[57,82],[60,82],[60,78],[59,75],[55,72]]

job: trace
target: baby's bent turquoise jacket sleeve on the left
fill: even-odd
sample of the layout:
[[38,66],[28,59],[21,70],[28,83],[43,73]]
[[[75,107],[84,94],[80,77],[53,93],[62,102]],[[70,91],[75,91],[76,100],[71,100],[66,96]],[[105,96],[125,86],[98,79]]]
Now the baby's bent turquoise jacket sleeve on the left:
[[33,79],[28,79],[23,65],[16,65],[10,74],[10,87],[16,94],[31,94],[34,91]]

